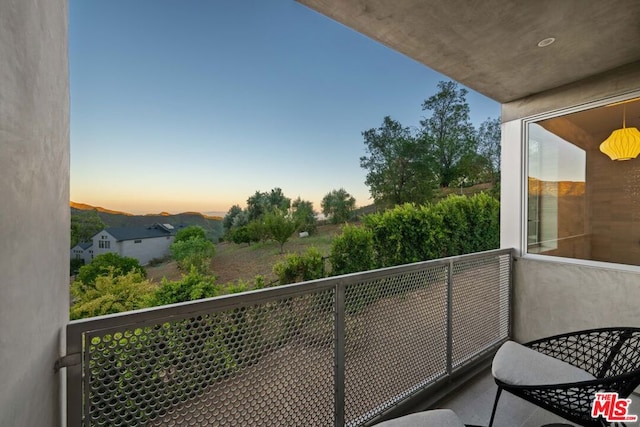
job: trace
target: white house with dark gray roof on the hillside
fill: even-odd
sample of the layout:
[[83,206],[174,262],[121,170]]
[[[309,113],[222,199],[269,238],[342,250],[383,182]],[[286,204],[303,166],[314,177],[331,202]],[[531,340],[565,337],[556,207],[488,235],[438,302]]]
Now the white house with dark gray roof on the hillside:
[[108,252],[136,258],[141,265],[153,258],[169,255],[169,245],[175,239],[176,228],[171,224],[148,227],[110,227],[93,236],[94,256]]

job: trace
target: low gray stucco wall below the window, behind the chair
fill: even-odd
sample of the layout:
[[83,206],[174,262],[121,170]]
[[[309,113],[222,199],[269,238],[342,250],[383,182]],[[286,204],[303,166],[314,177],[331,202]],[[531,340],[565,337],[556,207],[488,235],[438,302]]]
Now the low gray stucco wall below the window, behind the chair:
[[518,341],[579,329],[640,327],[640,272],[519,258],[513,320]]

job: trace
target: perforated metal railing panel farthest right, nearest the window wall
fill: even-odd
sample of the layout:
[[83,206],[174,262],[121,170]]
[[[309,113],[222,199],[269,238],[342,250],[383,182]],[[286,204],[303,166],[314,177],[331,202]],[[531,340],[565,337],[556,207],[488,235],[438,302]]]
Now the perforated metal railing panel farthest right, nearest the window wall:
[[510,256],[486,256],[453,264],[454,368],[508,337]]

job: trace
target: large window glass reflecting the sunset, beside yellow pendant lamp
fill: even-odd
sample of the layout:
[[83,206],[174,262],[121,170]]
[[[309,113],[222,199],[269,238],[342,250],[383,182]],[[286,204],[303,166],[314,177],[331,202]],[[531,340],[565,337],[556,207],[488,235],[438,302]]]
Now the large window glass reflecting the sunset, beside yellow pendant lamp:
[[527,125],[527,252],[640,265],[640,157],[612,161],[600,143],[640,127],[640,102]]

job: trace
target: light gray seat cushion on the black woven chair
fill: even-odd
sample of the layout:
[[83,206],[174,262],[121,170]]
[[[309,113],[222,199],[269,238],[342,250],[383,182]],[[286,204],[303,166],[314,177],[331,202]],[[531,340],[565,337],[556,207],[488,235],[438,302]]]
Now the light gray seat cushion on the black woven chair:
[[513,341],[504,343],[491,366],[493,377],[510,385],[549,385],[596,379],[567,362]]

